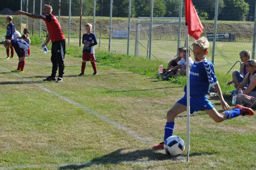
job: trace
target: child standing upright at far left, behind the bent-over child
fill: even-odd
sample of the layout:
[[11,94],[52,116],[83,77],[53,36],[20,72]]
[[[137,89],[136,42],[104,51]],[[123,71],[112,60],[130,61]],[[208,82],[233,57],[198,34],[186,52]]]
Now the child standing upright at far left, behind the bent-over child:
[[[6,17],[6,22],[8,23],[7,25],[7,29],[6,29],[6,40],[13,40],[13,36],[14,36],[14,25],[12,23],[12,16],[8,16]],[[7,57],[6,59],[10,59],[10,58],[14,58],[13,55],[14,55],[14,49],[13,47],[10,47],[11,48],[11,57],[9,56],[10,55],[10,51],[9,51],[9,47],[6,48],[6,54],[7,54]]]

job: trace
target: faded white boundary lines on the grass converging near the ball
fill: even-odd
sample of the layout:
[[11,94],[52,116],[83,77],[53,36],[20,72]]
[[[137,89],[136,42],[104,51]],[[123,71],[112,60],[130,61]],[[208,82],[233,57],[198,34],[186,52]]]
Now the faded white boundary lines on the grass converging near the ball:
[[[2,68],[5,71],[9,71],[8,69],[3,68],[2,66],[0,66],[0,68]],[[154,145],[154,142],[152,142],[151,140],[146,139],[144,137],[141,137],[136,132],[134,132],[134,131],[132,131],[132,130],[122,126],[122,125],[120,125],[119,123],[113,122],[112,120],[110,120],[110,119],[100,115],[99,113],[91,111],[90,109],[84,107],[83,105],[81,105],[81,104],[79,104],[77,102],[74,102],[74,101],[72,101],[72,100],[70,100],[70,99],[68,99],[68,98],[66,98],[64,96],[61,96],[60,94],[57,94],[54,91],[50,91],[49,89],[47,89],[47,88],[45,88],[45,87],[43,87],[43,86],[41,86],[41,85],[39,85],[39,84],[29,80],[29,79],[26,79],[26,78],[22,77],[19,74],[16,74],[16,73],[12,73],[12,74],[14,74],[17,77],[20,77],[21,79],[25,80],[26,82],[29,82],[31,84],[34,84],[34,85],[38,86],[39,88],[41,88],[44,91],[49,92],[50,94],[54,94],[55,96],[60,97],[61,99],[63,99],[66,102],[69,102],[69,103],[71,103],[73,105],[76,105],[77,107],[83,109],[84,111],[86,111],[86,112],[88,112],[88,113],[90,113],[90,114],[92,114],[94,116],[99,117],[103,121],[106,121],[106,122],[114,125],[115,127],[118,127],[119,129],[124,130],[126,133],[134,136],[135,138],[137,138],[137,139],[139,139],[139,140],[141,140],[143,142],[146,142],[146,143],[148,143],[150,145]],[[124,162],[124,161],[122,161],[122,162]],[[127,162],[129,162],[129,161],[127,161]],[[136,162],[136,161],[132,161],[132,162]],[[12,169],[21,169],[21,168],[26,169],[26,168],[34,168],[34,167],[62,167],[62,166],[87,167],[87,166],[90,166],[90,165],[93,165],[93,164],[100,164],[100,162],[98,162],[98,163],[97,162],[89,162],[89,163],[85,163],[85,164],[41,164],[41,165],[36,165],[35,164],[35,165],[13,166],[13,167],[0,167],[0,170],[12,170]]]

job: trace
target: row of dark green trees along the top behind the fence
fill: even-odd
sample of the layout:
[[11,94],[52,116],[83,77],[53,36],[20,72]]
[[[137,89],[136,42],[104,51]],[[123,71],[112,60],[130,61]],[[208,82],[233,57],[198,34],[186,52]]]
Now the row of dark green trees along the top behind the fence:
[[[26,0],[23,1],[23,10],[26,10]],[[29,4],[32,0],[29,0]],[[82,15],[93,15],[93,0],[82,0]],[[20,10],[20,0],[6,0],[3,8],[13,11]],[[33,2],[33,1],[32,1]],[[39,14],[39,0],[35,0],[35,13]],[[80,0],[71,0],[71,15],[80,16]],[[215,0],[192,0],[201,20],[214,20]],[[58,15],[58,0],[50,0],[52,13]],[[112,17],[128,17],[129,0],[113,0]],[[153,17],[178,17],[180,0],[154,0]],[[255,0],[219,0],[218,20],[254,20]],[[131,17],[150,17],[151,0],[131,0]],[[184,0],[183,0],[184,16]],[[32,13],[32,7],[29,6]],[[61,0],[61,16],[69,15],[69,0]],[[96,16],[109,17],[110,0],[96,0]]]

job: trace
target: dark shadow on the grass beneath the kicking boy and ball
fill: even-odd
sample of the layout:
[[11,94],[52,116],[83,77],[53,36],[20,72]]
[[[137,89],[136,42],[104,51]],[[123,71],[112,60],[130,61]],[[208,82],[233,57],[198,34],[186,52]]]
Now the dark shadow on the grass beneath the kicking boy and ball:
[[[121,153],[124,148],[118,149],[108,155],[94,158],[92,161],[84,164],[69,164],[62,167],[59,167],[59,170],[79,170],[85,167],[90,167],[92,165],[99,164],[119,164],[122,162],[130,163],[139,163],[146,161],[164,161],[164,160],[173,160],[173,161],[185,161],[184,156],[171,157],[166,155],[164,152],[159,152],[152,149],[146,150],[135,150],[133,152]],[[204,152],[204,153],[192,153],[190,156],[200,156],[200,155],[211,155],[214,153]]]

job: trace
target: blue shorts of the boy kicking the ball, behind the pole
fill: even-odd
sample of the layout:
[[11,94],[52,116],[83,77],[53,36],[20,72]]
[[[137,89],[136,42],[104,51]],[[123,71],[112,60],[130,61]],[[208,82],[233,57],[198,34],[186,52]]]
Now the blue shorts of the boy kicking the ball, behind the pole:
[[[186,106],[187,105],[186,94],[177,103]],[[210,102],[205,95],[193,95],[190,96],[190,114],[197,111],[211,110],[213,109],[212,102]]]

